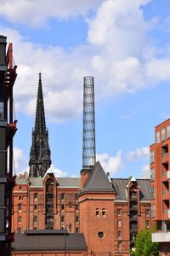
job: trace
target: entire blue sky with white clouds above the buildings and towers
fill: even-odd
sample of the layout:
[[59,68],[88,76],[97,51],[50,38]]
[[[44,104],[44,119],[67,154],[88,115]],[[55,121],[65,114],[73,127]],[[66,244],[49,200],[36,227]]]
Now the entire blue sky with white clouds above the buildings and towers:
[[17,173],[28,169],[38,73],[53,170],[82,169],[82,79],[95,79],[96,151],[111,177],[149,176],[154,127],[170,118],[169,0],[0,0],[14,44]]

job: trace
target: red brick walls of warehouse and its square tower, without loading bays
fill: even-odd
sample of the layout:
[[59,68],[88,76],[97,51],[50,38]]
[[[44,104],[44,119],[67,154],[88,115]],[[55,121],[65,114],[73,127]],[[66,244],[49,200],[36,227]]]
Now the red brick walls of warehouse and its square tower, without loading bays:
[[[59,188],[57,183],[55,188],[54,229],[59,230],[66,227],[72,233],[83,232],[88,244],[89,255],[91,252],[99,255],[97,253],[100,248],[104,253],[111,252],[117,256],[129,255],[130,203],[128,197],[127,201],[117,201],[116,195],[90,194],[82,195],[78,199],[77,194],[80,188]],[[45,229],[45,193],[44,182],[42,187],[32,187],[30,183],[15,185],[14,231]],[[20,204],[21,210],[19,211]],[[138,208],[138,230],[143,230],[146,227],[146,220],[150,223],[150,202],[138,200]],[[99,216],[96,216],[96,209],[99,209]],[[105,210],[105,216],[102,216],[102,210]],[[147,211],[149,211],[149,215],[146,214]],[[20,221],[19,217],[21,217]],[[37,218],[35,219],[35,217]],[[99,238],[99,232],[104,232],[104,237]]]

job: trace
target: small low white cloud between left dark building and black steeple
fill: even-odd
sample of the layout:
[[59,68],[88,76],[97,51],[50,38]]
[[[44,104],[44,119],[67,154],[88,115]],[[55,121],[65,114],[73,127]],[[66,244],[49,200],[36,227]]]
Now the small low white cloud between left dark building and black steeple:
[[28,172],[28,160],[21,148],[14,147],[14,171],[18,173]]

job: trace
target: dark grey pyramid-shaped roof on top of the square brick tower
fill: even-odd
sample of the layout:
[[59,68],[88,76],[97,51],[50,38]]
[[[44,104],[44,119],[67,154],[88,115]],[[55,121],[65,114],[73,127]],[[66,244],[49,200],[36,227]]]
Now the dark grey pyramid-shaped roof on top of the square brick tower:
[[100,165],[99,161],[94,165],[94,169],[88,177],[88,182],[86,183],[84,191],[94,191],[94,192],[113,192],[114,188],[112,186],[109,177],[105,174],[104,169]]

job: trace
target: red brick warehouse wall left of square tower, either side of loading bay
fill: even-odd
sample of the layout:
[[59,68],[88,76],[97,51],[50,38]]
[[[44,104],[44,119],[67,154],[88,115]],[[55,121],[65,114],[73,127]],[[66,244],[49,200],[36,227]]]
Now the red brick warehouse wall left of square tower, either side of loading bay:
[[[56,189],[54,197],[54,229],[59,230],[66,227],[70,232],[78,232],[78,190],[78,188]],[[37,195],[36,198],[35,195]],[[29,183],[15,185],[13,231],[24,232],[25,230],[45,229],[44,198],[43,187],[32,188]]]

